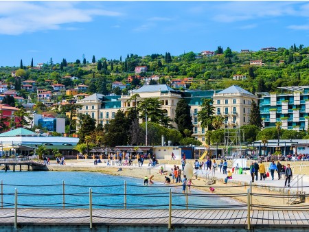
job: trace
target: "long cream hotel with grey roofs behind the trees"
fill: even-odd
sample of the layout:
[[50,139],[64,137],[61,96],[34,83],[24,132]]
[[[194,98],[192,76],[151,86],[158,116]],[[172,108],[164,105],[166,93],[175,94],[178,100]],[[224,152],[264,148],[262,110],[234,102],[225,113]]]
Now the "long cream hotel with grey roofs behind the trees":
[[[137,101],[132,99],[133,95],[138,94]],[[130,91],[128,95],[105,96],[94,93],[89,97],[78,100],[77,104],[82,105],[78,113],[90,115],[96,120],[97,124],[108,124],[109,120],[115,117],[115,113],[121,109],[128,113],[128,108],[135,107],[139,101],[149,97],[158,97],[161,101],[161,108],[172,120],[175,118],[176,106],[179,100],[185,99],[191,107],[192,124],[194,125],[193,136],[205,143],[205,128],[201,127],[198,121],[198,112],[204,99],[214,101],[215,114],[225,117],[227,128],[249,124],[249,113],[251,111],[251,101],[258,101],[258,98],[240,88],[231,86],[225,90],[209,91],[175,91],[166,84],[144,85],[139,89]],[[144,119],[140,119],[140,123]],[[173,123],[176,128],[176,123]]]

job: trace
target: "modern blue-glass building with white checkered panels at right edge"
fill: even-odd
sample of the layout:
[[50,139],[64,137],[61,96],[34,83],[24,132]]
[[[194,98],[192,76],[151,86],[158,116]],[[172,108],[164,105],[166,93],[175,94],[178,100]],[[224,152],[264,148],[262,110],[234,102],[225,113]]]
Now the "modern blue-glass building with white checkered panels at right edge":
[[308,130],[309,86],[279,87],[282,93],[263,93],[260,113],[264,128],[282,122],[282,129]]

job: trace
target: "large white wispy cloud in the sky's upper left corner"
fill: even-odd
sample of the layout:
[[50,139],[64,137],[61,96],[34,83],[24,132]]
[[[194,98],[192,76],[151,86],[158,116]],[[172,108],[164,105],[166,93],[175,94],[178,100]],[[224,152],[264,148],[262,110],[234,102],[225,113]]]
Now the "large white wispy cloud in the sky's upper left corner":
[[94,16],[121,15],[114,11],[79,8],[78,5],[79,3],[55,1],[0,1],[0,34],[19,35],[41,30],[58,30],[65,23],[90,22]]

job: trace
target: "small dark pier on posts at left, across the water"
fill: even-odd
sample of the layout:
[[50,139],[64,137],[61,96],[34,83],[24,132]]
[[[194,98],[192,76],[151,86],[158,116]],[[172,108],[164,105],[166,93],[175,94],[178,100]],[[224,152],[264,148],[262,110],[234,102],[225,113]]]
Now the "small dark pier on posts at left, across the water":
[[32,170],[34,171],[47,171],[47,166],[43,163],[37,163],[34,161],[19,161],[19,160],[10,160],[10,159],[1,159],[0,165],[4,166],[5,172],[12,167],[13,172],[15,172],[16,167],[19,167],[19,171],[21,172],[22,166],[27,166],[27,170],[30,171],[30,167],[32,167]]

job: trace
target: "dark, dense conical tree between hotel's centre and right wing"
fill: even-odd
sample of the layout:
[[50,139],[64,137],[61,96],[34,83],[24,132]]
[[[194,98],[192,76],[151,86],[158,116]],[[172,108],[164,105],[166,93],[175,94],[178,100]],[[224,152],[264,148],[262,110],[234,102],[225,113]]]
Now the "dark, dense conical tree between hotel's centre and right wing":
[[185,99],[179,100],[176,105],[175,119],[179,132],[185,136],[185,130],[190,130],[190,136],[193,132],[192,117],[190,114],[190,106]]

